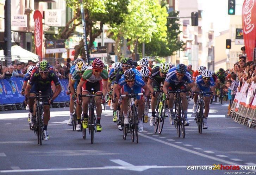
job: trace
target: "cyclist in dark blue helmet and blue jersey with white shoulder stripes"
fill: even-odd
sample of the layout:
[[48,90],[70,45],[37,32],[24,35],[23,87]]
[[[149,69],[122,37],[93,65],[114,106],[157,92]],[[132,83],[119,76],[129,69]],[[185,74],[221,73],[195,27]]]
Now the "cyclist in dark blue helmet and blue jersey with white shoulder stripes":
[[[191,88],[194,88],[194,81],[192,80],[192,76],[190,73],[187,72],[187,66],[184,64],[178,64],[176,67],[169,70],[167,77],[165,79],[164,85],[163,85],[163,91],[167,95],[167,98],[169,96],[168,106],[170,108],[171,113],[171,123],[173,124],[174,120],[174,113],[173,113],[173,102],[174,102],[174,94],[171,93],[168,94],[168,90],[176,91],[176,90],[183,90],[187,89],[185,83],[188,83],[188,85]],[[187,94],[186,92],[180,93],[182,98],[182,105],[183,105],[183,112],[185,115],[185,126],[189,125],[188,121],[188,102],[187,102]]]

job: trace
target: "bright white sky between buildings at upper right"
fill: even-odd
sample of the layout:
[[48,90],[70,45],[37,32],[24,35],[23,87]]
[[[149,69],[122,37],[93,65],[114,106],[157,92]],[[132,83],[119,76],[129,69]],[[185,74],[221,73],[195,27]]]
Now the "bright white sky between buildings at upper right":
[[[213,22],[214,33],[229,29],[229,15],[227,14],[228,0],[199,0],[202,3],[203,18]],[[244,0],[236,0],[236,15],[242,14]],[[242,22],[242,20],[241,20]]]

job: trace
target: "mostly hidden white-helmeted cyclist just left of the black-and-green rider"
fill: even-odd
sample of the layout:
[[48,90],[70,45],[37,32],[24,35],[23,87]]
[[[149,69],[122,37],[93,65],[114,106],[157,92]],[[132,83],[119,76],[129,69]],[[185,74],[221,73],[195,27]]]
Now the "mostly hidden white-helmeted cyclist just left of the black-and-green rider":
[[[140,73],[141,73],[141,77],[142,77],[144,83],[148,84],[148,80],[149,80],[149,76],[150,76],[149,67],[146,67],[146,66],[142,67]],[[149,120],[148,119],[149,118],[148,117],[148,113],[149,113],[149,98],[150,98],[150,96],[145,97],[145,99],[144,99],[144,106],[145,106],[145,108],[144,108],[144,122],[145,123],[148,123],[148,120]]]

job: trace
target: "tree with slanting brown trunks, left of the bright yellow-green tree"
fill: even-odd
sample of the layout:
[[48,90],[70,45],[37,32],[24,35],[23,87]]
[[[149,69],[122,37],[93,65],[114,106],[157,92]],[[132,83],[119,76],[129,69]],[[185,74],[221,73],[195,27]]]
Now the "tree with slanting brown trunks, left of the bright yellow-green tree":
[[[83,7],[86,20],[86,34],[89,36],[88,48],[93,46],[93,41],[102,33],[104,24],[118,25],[123,22],[124,14],[127,13],[127,5],[129,0],[84,0]],[[73,35],[76,26],[82,24],[79,0],[68,0],[67,5],[76,13],[63,31],[60,38],[68,39]],[[77,22],[76,22],[77,21]],[[75,56],[77,57],[83,49],[84,41],[81,40],[79,45],[75,47]],[[82,51],[84,54],[84,50]],[[76,58],[75,57],[75,58]]]

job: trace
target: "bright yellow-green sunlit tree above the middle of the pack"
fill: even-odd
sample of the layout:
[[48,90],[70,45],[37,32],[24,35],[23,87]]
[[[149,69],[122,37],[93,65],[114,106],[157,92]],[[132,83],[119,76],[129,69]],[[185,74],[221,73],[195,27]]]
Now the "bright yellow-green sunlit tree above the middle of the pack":
[[130,50],[137,52],[138,43],[149,43],[155,35],[160,40],[166,38],[166,8],[158,0],[131,0],[124,21],[115,25],[111,31],[115,39],[115,54],[121,55],[121,41],[129,39]]

